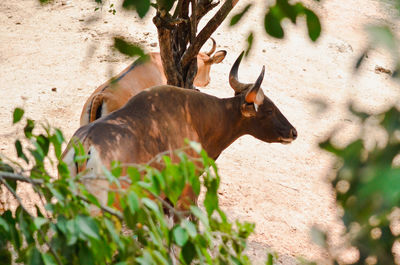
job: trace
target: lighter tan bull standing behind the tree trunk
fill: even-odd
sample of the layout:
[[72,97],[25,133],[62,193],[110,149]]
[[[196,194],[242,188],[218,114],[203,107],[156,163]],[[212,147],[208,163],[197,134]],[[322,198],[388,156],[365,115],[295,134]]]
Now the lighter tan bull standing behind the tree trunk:
[[[213,55],[216,43],[214,39],[211,40],[213,42],[211,50],[197,55],[197,74],[193,83],[198,87],[208,85],[211,65],[222,62],[226,55],[224,50],[217,51]],[[167,84],[160,53],[153,52],[149,56],[149,61],[135,61],[90,95],[82,109],[81,126],[121,108],[131,97],[146,88]]]

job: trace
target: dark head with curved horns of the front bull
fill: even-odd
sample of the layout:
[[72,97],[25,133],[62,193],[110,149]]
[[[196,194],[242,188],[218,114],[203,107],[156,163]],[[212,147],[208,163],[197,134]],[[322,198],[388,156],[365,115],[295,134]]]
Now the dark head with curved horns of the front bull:
[[248,133],[265,142],[290,143],[297,138],[296,129],[283,116],[278,107],[264,95],[261,83],[265,66],[254,84],[243,84],[238,81],[238,68],[243,52],[236,59],[229,73],[229,84],[235,95],[241,97],[241,113],[248,123]]

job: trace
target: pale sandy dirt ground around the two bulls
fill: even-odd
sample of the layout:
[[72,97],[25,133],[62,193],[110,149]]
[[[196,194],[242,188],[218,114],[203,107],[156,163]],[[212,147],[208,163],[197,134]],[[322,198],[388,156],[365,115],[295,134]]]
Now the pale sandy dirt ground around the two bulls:
[[[94,1],[89,0],[55,0],[44,7],[37,2],[0,1],[0,152],[11,156],[16,137],[11,116],[17,106],[25,109],[26,116],[47,121],[61,128],[67,139],[71,137],[86,98],[133,61],[111,49],[112,36],[126,36],[148,51],[158,49],[153,47],[157,35],[152,14],[140,20],[117,8],[114,16],[108,6],[116,0],[96,12]],[[236,12],[248,2],[240,1]],[[341,145],[357,135],[358,121],[349,115],[348,102],[370,112],[397,102],[398,87],[387,74],[374,71],[375,66],[392,68],[388,54],[371,53],[361,72],[353,72],[367,46],[364,26],[387,22],[387,7],[376,0],[307,1],[323,26],[321,38],[311,43],[302,19],[296,26],[285,24],[284,40],[268,37],[262,28],[264,2],[257,1],[244,24],[229,28],[224,23],[214,33],[218,49],[228,55],[213,66],[211,83],[202,91],[233,95],[228,71],[252,30],[254,47],[241,65],[239,78],[254,82],[265,65],[264,92],[299,137],[290,145],[280,145],[244,136],[228,147],[217,161],[222,207],[231,219],[256,223],[249,244],[255,264],[265,260],[267,250],[278,253],[280,264],[297,264],[298,256],[329,264],[329,255],[312,243],[313,225],[328,232],[345,261],[354,260],[354,251],[341,251],[344,228],[327,180],[332,157],[319,150],[318,142],[333,130]],[[399,24],[391,26],[399,29]],[[26,187],[19,192],[32,205]]]

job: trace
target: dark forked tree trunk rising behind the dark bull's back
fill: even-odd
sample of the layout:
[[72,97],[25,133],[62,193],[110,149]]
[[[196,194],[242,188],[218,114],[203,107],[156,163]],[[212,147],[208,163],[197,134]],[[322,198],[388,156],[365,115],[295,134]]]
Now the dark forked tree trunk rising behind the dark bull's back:
[[153,22],[157,27],[161,60],[169,85],[194,88],[197,54],[237,2],[237,0],[226,0],[199,34],[197,26],[200,19],[219,2],[178,0],[173,15],[158,5]]

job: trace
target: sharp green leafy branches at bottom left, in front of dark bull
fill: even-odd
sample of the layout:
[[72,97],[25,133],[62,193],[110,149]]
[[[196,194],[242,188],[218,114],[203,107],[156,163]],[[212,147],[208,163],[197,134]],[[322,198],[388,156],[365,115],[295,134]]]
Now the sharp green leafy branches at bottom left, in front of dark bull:
[[[23,111],[16,109],[14,121],[22,121],[22,115]],[[107,205],[101,205],[82,184],[85,175],[71,177],[60,160],[61,131],[48,126],[42,129],[44,133],[36,133],[35,122],[26,119],[22,142],[29,140],[31,147],[24,148],[20,140],[15,145],[26,164],[14,160],[0,164],[0,181],[19,202],[15,212],[8,210],[0,216],[3,264],[11,263],[13,253],[15,262],[46,265],[250,263],[243,251],[254,225],[231,223],[219,208],[217,167],[197,143],[189,143],[197,158],[184,152],[187,149],[176,153],[179,163],[168,156],[158,157],[165,166],[161,171],[147,165],[127,165],[127,174],[122,175],[122,165],[113,163],[105,177],[110,187],[117,188],[110,188]],[[81,148],[76,146],[76,163],[86,159]],[[51,158],[54,156],[56,160]],[[57,165],[58,178],[46,171],[45,161]],[[25,170],[28,166],[30,170]],[[204,172],[202,179],[199,171]],[[32,184],[43,207],[24,207],[16,194],[17,180]],[[127,183],[128,188],[119,188]],[[197,195],[201,187],[206,189],[206,212],[196,205],[187,212],[173,207],[186,184]],[[93,215],[94,209],[102,214]],[[173,213],[173,224],[168,222],[167,212]],[[185,218],[188,215],[192,220]]]

